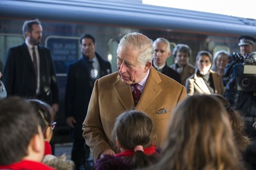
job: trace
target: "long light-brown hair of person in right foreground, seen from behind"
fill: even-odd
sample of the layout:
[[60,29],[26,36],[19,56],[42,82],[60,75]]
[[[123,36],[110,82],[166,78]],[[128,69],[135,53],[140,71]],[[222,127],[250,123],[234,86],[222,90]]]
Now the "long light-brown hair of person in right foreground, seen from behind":
[[193,95],[172,112],[159,162],[147,169],[240,170],[225,107],[210,95]]

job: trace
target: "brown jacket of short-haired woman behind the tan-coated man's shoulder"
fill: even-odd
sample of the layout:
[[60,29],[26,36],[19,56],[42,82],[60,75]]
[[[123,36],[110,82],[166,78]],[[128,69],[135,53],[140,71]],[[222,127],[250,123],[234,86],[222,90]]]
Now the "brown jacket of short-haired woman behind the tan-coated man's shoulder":
[[170,68],[180,73],[181,84],[183,86],[186,85],[186,80],[188,79],[188,77],[190,77],[191,75],[193,75],[193,73],[195,73],[195,66],[189,63],[186,66],[184,66],[181,72],[179,72],[179,69],[176,64],[171,65]]

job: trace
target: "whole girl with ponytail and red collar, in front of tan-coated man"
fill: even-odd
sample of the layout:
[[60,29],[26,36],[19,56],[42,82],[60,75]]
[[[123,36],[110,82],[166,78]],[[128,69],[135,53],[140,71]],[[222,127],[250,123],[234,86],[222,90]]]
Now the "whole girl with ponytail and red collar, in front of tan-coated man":
[[120,153],[104,155],[97,160],[96,170],[147,167],[158,160],[152,120],[141,111],[127,111],[116,119],[113,139]]

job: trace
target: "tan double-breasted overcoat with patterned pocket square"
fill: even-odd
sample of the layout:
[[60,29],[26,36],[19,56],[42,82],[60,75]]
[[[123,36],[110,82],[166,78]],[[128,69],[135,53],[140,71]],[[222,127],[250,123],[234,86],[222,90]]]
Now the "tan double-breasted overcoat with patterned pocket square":
[[[163,73],[150,68],[147,82],[136,110],[145,112],[154,123],[157,145],[166,139],[170,115],[176,105],[187,96],[186,89]],[[113,150],[111,132],[116,117],[134,107],[131,88],[120,79],[118,72],[97,80],[83,123],[83,136],[90,146],[94,160],[104,150]]]

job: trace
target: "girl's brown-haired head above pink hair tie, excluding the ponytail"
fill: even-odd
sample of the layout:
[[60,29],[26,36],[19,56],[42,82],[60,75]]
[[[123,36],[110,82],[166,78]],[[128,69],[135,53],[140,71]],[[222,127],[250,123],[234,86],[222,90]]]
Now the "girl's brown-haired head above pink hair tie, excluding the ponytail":
[[134,150],[138,145],[150,147],[155,141],[152,120],[141,111],[126,111],[116,118],[113,137],[119,149]]

